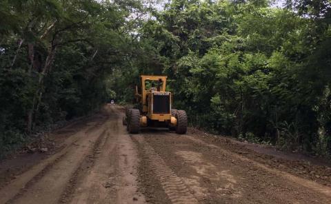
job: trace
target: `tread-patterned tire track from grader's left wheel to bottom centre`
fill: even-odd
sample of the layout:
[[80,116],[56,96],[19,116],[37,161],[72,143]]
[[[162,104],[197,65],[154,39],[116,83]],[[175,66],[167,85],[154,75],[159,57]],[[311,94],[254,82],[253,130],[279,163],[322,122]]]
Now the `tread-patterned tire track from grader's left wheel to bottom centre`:
[[148,156],[154,174],[157,176],[165,194],[168,195],[172,203],[198,203],[182,179],[174,174],[161,156],[154,151],[153,147],[144,141],[141,135],[131,135],[131,137],[141,145],[143,154]]

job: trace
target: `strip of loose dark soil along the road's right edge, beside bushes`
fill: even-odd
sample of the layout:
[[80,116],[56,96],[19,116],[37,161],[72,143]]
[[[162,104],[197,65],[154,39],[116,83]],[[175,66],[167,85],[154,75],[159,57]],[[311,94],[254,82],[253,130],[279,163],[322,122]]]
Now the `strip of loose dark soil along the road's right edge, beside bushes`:
[[287,172],[301,179],[331,187],[331,164],[326,158],[283,152],[268,145],[245,143],[226,136],[217,136],[190,129],[190,135],[223,150],[244,156],[272,169]]

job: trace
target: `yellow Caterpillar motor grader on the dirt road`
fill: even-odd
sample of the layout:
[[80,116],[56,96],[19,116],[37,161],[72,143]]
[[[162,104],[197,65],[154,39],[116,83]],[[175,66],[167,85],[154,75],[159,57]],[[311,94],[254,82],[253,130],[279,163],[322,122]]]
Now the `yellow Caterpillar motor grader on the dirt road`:
[[139,109],[126,110],[123,125],[128,132],[137,134],[140,128],[169,128],[177,134],[185,134],[188,129],[188,117],[185,110],[171,108],[172,94],[165,91],[167,76],[141,75],[141,93],[136,90],[134,96],[140,103]]

